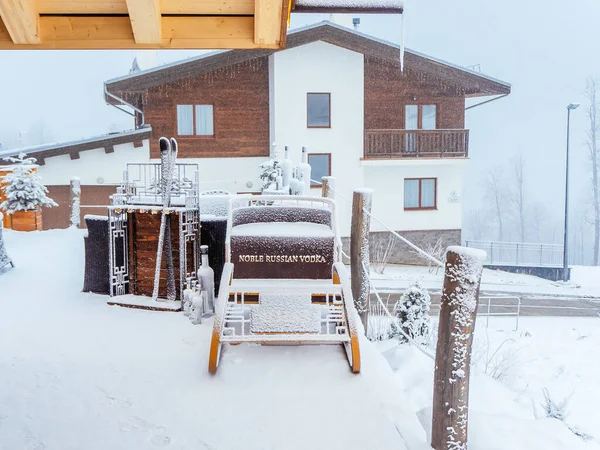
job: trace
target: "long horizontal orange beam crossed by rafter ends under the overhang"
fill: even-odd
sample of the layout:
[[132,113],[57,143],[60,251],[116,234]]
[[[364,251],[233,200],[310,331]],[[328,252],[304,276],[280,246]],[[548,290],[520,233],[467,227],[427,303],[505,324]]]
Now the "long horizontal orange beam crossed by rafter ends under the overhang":
[[[0,0],[1,1],[1,0]],[[253,17],[163,17],[158,44],[135,42],[129,17],[42,16],[38,45],[15,45],[0,23],[0,50],[7,49],[253,49]]]

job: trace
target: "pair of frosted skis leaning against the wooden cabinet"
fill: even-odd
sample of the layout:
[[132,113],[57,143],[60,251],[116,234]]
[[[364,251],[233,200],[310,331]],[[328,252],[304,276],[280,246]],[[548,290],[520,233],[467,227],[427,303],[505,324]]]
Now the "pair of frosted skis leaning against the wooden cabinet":
[[171,190],[173,188],[173,174],[175,172],[175,162],[177,160],[177,141],[175,138],[169,139],[161,137],[158,140],[160,147],[161,164],[161,193],[163,201],[163,211],[160,218],[160,232],[158,235],[158,249],[156,251],[156,271],[154,272],[154,289],[152,291],[152,300],[158,298],[158,288],[160,285],[160,266],[162,263],[163,248],[166,244],[166,266],[167,266],[167,300],[175,300],[177,290],[175,288],[175,267],[173,266],[173,243],[171,239],[171,214],[168,210],[171,206]]

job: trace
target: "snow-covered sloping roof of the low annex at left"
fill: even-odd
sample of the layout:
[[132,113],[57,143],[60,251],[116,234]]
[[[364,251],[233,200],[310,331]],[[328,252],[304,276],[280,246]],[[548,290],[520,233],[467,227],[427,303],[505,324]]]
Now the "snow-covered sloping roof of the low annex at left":
[[144,139],[150,139],[152,128],[144,127],[138,130],[127,130],[118,133],[102,134],[77,141],[56,142],[50,144],[35,145],[32,147],[15,148],[0,151],[0,159],[15,156],[20,153],[35,156],[40,165],[44,164],[44,158],[64,154],[78,154],[81,151],[97,148],[112,149],[115,145],[128,142],[138,143]]

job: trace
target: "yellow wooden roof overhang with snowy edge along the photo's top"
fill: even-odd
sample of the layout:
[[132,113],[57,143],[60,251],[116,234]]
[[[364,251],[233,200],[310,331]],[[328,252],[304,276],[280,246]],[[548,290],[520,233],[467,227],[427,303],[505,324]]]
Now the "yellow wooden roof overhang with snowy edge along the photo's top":
[[289,14],[402,13],[403,0],[0,0],[2,49],[276,49]]

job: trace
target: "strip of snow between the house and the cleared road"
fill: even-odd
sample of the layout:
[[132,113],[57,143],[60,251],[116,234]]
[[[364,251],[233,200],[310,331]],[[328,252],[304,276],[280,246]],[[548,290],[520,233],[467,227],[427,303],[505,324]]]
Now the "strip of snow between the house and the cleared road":
[[[372,277],[379,289],[406,288],[415,281],[423,287],[439,290],[444,279],[440,269],[431,273],[427,267],[390,265],[383,274],[372,272]],[[535,296],[557,297],[598,297],[600,298],[600,268],[572,268],[571,281],[550,281],[532,275],[503,272],[501,270],[484,269],[481,280],[483,293],[505,293]]]

